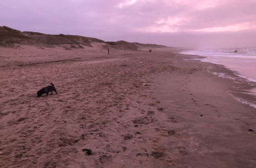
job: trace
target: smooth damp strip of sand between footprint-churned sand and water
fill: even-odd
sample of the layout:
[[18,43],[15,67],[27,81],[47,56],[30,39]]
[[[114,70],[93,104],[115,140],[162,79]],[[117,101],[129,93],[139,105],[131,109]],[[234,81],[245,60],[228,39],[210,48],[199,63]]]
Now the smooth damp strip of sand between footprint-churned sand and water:
[[[205,71],[211,66],[221,72],[230,70],[212,63],[187,62],[189,68],[194,64],[195,67],[201,65],[202,69],[193,73],[188,69],[183,79],[180,79],[179,73],[162,75],[162,80],[155,86],[158,89],[155,95],[168,111],[168,126],[182,136],[183,141],[178,143],[173,140],[173,145],[179,144],[176,148],[180,153],[189,151],[185,157],[176,157],[176,161],[184,167],[255,166],[252,151],[255,152],[256,148],[251,146],[253,141],[247,139],[255,136],[245,137],[246,129],[248,131],[248,127],[255,127],[254,119],[250,119],[255,118],[255,109],[230,97],[227,91],[234,83],[232,80]],[[164,81],[166,76],[168,79]],[[181,83],[184,83],[181,90],[174,90]],[[166,94],[169,88],[173,89]],[[244,142],[243,138],[248,141]],[[248,153],[240,151],[242,149]],[[244,154],[251,158],[245,158]]]

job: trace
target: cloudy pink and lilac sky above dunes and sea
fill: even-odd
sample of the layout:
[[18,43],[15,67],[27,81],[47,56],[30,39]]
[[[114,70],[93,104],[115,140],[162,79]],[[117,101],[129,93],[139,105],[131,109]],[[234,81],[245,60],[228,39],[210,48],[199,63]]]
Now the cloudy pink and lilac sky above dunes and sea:
[[174,47],[256,46],[256,0],[2,0],[0,25]]

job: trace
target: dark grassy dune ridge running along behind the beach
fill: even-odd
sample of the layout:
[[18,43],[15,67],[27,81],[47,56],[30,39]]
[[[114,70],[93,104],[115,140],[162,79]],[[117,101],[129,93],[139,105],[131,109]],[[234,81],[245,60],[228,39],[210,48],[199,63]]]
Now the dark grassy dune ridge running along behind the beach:
[[39,32],[21,32],[7,26],[0,26],[0,46],[2,47],[15,47],[18,44],[27,45],[44,45],[45,47],[55,47],[58,45],[68,44],[72,48],[83,48],[84,46],[93,47],[91,44],[103,43],[107,47],[112,48],[125,48],[130,50],[137,50],[139,48],[163,48],[164,45],[157,44],[141,44],[138,42],[127,41],[103,41],[97,38],[84,37],[78,35],[50,35]]

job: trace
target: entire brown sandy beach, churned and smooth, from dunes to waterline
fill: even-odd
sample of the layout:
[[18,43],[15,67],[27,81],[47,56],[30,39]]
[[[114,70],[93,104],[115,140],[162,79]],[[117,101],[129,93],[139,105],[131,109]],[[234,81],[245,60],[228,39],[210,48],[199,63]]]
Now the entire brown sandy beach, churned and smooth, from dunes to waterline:
[[[0,167],[256,167],[256,110],[209,73],[223,67],[97,44],[0,51]],[[50,82],[58,94],[36,97]]]

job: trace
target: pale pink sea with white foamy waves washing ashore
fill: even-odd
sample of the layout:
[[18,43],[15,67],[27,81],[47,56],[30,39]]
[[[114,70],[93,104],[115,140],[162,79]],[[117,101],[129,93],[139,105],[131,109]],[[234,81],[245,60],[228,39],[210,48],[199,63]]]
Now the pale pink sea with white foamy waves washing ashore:
[[200,55],[204,58],[196,59],[202,62],[210,62],[225,66],[227,69],[234,71],[237,77],[228,76],[221,72],[211,72],[223,78],[233,80],[247,80],[252,86],[247,94],[254,98],[249,102],[241,98],[236,98],[245,104],[256,108],[256,47],[247,48],[220,48],[220,49],[191,49],[183,50],[183,54]]

